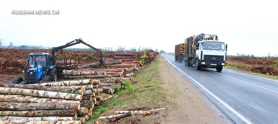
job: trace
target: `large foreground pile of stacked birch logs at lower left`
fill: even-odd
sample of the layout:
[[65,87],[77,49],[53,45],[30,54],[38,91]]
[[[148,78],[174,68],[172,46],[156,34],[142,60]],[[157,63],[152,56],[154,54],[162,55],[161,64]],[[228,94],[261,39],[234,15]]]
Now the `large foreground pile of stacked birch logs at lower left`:
[[100,80],[2,83],[0,123],[84,123],[92,116],[97,100],[103,99],[99,96],[102,89],[93,89],[93,84],[100,84]]

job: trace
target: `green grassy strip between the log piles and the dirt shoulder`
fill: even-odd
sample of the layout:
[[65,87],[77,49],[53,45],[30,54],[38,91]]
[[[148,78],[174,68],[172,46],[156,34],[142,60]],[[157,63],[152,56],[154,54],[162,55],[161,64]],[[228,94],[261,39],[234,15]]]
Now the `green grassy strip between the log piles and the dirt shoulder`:
[[[174,105],[172,101],[167,101],[167,92],[163,89],[158,72],[158,65],[161,60],[157,59],[141,67],[140,72],[135,72],[131,83],[126,82],[126,86],[112,97],[93,109],[92,118],[86,123],[96,122],[99,116],[106,111],[112,110],[149,110],[149,108],[162,108]],[[111,114],[111,113],[110,113]]]

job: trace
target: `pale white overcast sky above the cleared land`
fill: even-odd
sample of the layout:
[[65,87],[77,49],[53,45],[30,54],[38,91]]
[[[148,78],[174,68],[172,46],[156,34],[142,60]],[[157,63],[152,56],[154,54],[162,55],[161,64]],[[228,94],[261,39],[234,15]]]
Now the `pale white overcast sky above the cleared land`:
[[[96,48],[174,45],[200,33],[218,35],[228,55],[278,54],[274,1],[14,1],[1,0],[3,45],[60,46],[82,38]],[[59,10],[59,14],[11,14],[12,10]],[[75,47],[86,48],[85,45]]]

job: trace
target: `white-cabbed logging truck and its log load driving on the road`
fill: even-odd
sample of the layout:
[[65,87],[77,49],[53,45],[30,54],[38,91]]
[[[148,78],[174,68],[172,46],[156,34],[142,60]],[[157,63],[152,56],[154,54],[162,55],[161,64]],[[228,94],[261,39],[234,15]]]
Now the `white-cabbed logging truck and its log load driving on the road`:
[[195,64],[196,70],[216,68],[217,72],[221,72],[226,66],[226,56],[227,44],[218,41],[217,35],[193,35],[175,46],[175,61],[184,61],[189,67]]

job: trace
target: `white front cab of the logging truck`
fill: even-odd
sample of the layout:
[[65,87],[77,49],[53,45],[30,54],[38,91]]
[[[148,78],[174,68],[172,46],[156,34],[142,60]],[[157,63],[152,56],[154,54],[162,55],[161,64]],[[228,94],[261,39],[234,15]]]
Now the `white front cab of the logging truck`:
[[218,72],[226,66],[227,44],[218,40],[201,40],[197,43],[195,67],[216,68]]

